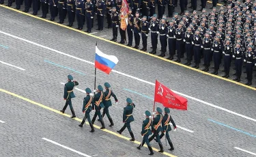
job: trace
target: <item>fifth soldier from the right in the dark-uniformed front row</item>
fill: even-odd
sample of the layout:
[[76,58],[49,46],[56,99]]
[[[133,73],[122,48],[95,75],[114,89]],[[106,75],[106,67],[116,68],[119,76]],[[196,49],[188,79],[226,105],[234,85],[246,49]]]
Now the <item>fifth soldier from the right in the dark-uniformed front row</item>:
[[209,34],[205,33],[205,38],[202,40],[201,48],[203,48],[203,60],[204,60],[204,65],[205,68],[203,68],[204,72],[209,71],[209,66],[210,66],[210,54],[211,54],[211,45],[212,40],[209,38]]

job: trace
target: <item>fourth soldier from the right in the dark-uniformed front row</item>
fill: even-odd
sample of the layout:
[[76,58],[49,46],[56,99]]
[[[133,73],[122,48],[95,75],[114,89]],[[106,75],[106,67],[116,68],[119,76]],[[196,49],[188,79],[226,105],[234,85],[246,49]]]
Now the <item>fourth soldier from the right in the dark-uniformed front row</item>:
[[221,55],[223,50],[223,43],[220,40],[219,36],[214,37],[214,42],[212,43],[211,51],[213,53],[213,59],[214,59],[214,72],[212,74],[217,75],[218,69],[220,68],[221,64]]

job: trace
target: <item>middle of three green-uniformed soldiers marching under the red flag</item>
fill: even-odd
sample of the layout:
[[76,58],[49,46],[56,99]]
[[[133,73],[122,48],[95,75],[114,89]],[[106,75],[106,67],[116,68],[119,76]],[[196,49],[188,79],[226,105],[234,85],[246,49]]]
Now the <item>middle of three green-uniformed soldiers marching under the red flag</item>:
[[162,143],[160,141],[160,137],[159,137],[159,132],[162,132],[162,126],[165,126],[165,124],[162,121],[162,109],[160,109],[159,107],[156,108],[156,117],[154,117],[153,119],[153,123],[152,123],[152,132],[154,132],[154,134],[152,135],[152,137],[150,137],[150,141],[152,141],[154,139],[154,137],[156,137],[156,140],[158,141],[158,145],[160,147],[160,151],[158,152],[164,152],[164,148],[162,147]]

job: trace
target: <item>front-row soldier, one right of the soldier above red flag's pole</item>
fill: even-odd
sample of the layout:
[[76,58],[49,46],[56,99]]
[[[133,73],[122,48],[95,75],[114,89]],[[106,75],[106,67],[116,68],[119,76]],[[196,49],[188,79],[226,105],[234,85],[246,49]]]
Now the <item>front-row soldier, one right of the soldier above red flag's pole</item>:
[[167,51],[167,33],[168,33],[168,26],[165,22],[166,18],[162,18],[161,23],[159,24],[159,39],[161,44],[161,54],[158,55],[159,57],[165,57],[165,53]]

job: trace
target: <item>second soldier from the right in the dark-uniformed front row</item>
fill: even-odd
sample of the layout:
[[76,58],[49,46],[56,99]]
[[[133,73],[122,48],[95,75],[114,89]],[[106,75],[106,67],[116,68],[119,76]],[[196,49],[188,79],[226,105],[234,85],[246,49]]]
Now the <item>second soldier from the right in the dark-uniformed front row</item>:
[[240,82],[241,74],[242,74],[242,57],[244,55],[244,50],[241,48],[240,43],[236,44],[236,48],[234,48],[233,58],[236,59],[236,78],[233,81]]

